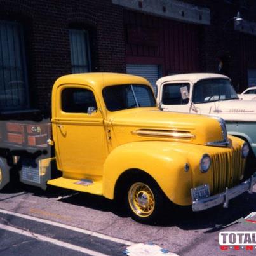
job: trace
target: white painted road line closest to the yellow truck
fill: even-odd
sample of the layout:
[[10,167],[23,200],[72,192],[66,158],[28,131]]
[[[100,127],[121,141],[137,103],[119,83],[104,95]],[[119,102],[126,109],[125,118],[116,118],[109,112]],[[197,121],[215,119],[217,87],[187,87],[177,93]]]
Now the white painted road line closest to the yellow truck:
[[13,216],[17,216],[17,217],[20,217],[20,218],[24,218],[24,219],[27,219],[27,220],[34,220],[36,222],[41,222],[41,223],[44,223],[44,224],[49,224],[51,226],[62,227],[64,229],[69,229],[69,230],[80,232],[80,233],[83,233],[83,234],[88,234],[90,236],[95,236],[97,238],[101,238],[101,239],[104,239],[104,240],[107,240],[107,241],[112,241],[114,243],[121,243],[123,245],[133,245],[134,244],[133,242],[126,241],[124,239],[113,238],[112,236],[107,236],[105,234],[100,234],[98,232],[93,232],[93,231],[90,231],[90,230],[87,230],[87,229],[81,229],[79,227],[68,226],[66,224],[62,224],[62,223],[58,223],[58,222],[53,222],[51,220],[44,220],[44,219],[40,219],[38,217],[33,217],[33,216],[25,215],[25,214],[22,214],[22,213],[10,212],[10,211],[3,210],[3,209],[0,209],[0,212],[1,213],[5,213],[5,214],[9,214],[9,215],[13,215]]

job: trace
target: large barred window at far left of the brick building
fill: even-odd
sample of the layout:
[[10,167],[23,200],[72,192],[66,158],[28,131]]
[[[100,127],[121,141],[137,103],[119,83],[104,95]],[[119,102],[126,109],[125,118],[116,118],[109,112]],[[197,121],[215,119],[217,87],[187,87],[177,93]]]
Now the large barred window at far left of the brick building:
[[0,111],[29,107],[22,26],[0,21]]

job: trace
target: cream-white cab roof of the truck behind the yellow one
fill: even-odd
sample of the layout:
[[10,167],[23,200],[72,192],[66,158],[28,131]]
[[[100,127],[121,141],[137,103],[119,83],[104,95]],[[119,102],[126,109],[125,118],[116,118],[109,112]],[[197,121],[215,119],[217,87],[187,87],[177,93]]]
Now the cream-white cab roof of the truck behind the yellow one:
[[201,79],[208,79],[208,78],[224,78],[229,79],[229,77],[224,76],[222,74],[215,74],[215,73],[187,73],[187,74],[177,74],[172,76],[165,76],[158,81],[156,81],[156,84],[165,83],[167,81],[191,81],[191,83],[196,83]]

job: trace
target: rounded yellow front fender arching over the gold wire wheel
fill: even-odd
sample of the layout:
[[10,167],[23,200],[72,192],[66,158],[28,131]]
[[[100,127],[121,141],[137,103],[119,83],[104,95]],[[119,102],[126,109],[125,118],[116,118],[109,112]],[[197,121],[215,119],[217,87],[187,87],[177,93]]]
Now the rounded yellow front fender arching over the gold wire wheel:
[[116,147],[104,163],[102,194],[114,199],[114,188],[120,175],[127,170],[143,170],[161,187],[165,195],[179,205],[191,203],[191,172],[187,144],[178,142],[131,142]]

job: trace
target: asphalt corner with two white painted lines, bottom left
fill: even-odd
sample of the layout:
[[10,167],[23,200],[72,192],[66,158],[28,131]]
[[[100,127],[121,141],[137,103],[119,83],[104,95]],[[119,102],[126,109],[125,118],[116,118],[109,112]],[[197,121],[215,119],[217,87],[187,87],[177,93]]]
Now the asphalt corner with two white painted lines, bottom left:
[[[115,241],[113,241],[115,240]],[[129,242],[0,209],[1,255],[120,255]]]

